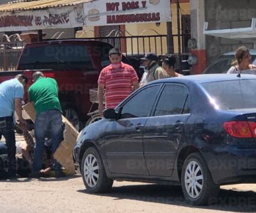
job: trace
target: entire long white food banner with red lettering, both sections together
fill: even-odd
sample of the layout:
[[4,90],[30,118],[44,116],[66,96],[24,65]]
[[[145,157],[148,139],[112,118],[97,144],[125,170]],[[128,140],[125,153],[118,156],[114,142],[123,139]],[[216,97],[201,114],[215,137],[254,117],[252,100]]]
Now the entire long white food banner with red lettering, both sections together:
[[171,21],[169,0],[90,1],[75,6],[0,12],[0,31],[34,31]]

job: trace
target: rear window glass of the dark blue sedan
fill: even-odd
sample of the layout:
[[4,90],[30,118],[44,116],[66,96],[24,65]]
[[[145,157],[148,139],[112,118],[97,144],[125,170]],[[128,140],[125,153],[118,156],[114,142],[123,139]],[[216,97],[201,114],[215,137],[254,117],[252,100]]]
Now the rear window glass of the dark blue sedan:
[[201,84],[210,102],[223,110],[256,108],[256,80],[231,80]]

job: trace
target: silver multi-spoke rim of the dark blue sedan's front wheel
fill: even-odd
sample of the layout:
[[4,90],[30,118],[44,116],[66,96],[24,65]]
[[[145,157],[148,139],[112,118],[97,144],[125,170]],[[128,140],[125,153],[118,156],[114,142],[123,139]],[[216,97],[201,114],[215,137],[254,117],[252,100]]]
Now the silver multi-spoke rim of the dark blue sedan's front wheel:
[[84,164],[85,181],[90,187],[95,187],[99,179],[99,165],[94,155],[87,155]]

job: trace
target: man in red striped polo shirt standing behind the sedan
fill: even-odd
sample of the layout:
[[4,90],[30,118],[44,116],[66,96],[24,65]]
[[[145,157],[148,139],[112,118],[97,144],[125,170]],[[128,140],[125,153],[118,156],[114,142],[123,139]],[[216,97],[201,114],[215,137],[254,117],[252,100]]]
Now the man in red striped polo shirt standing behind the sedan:
[[114,109],[135,89],[139,88],[138,76],[134,68],[122,62],[122,53],[112,48],[109,53],[111,64],[100,72],[98,79],[99,113],[104,109],[103,94],[105,89],[105,108]]

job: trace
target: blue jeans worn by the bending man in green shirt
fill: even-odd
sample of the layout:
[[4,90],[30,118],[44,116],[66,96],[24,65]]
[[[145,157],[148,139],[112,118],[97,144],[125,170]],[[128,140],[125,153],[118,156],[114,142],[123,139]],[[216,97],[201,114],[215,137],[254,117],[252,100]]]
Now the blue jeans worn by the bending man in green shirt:
[[[49,128],[49,129],[48,129]],[[60,142],[63,140],[63,121],[60,111],[57,109],[43,111],[36,116],[35,121],[35,138],[36,148],[34,150],[32,172],[38,173],[42,168],[42,157],[44,151],[44,143],[46,138],[46,131],[50,130],[50,140],[53,146],[53,153],[58,148]],[[59,172],[61,165],[54,159],[54,170]]]

